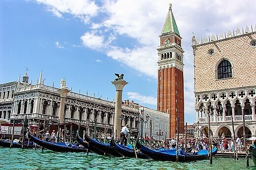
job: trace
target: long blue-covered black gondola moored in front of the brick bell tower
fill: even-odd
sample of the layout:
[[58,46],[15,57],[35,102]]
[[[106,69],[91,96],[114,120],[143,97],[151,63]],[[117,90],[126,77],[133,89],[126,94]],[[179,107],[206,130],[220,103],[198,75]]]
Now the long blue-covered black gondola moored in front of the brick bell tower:
[[[139,140],[136,140],[136,147],[148,157],[158,160],[158,161],[177,161],[177,150],[176,149],[166,149],[166,150],[154,150],[143,146]],[[215,153],[217,148],[213,149],[212,153]],[[193,152],[191,154],[184,152],[182,149],[178,150],[179,154],[179,162],[189,162],[189,161],[199,161],[208,159],[208,151],[207,154],[205,152]],[[201,154],[202,153],[202,154]]]

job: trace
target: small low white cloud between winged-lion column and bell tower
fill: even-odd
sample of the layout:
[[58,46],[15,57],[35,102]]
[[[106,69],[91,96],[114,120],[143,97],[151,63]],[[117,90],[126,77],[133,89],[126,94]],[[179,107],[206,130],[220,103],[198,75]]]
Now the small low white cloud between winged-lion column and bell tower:
[[156,105],[157,99],[153,96],[143,96],[136,92],[127,92],[128,98],[138,101],[140,104]]

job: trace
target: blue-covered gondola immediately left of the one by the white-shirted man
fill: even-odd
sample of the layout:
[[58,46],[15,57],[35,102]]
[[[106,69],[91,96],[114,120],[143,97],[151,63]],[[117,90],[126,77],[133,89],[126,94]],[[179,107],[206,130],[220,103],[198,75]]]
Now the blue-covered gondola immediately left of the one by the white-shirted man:
[[[101,150],[107,155],[117,156],[117,157],[123,157],[124,155],[121,155],[118,153],[114,148],[110,146],[109,143],[101,143],[96,139],[91,139],[87,133],[85,133],[85,141],[89,143],[89,146],[92,146],[98,150]],[[90,150],[90,149],[89,149]]]

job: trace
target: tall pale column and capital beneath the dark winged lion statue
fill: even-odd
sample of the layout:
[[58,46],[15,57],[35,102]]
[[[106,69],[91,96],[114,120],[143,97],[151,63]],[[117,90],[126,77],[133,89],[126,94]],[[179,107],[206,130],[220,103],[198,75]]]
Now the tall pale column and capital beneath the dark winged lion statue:
[[124,80],[117,80],[111,82],[116,87],[116,103],[115,103],[115,117],[114,117],[114,132],[116,133],[116,137],[120,138],[121,132],[121,120],[119,120],[119,116],[121,116],[122,112],[122,94],[123,88],[128,83]]

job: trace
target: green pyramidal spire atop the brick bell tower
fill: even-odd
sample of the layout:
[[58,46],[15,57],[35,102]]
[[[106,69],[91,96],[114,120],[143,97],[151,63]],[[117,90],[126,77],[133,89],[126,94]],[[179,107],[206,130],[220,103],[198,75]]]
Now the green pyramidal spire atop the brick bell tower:
[[176,25],[172,10],[171,10],[171,4],[170,4],[170,8],[169,8],[169,12],[167,14],[164,26],[162,28],[162,33],[171,33],[171,32],[175,32],[176,34],[178,34],[180,36],[178,27]]

